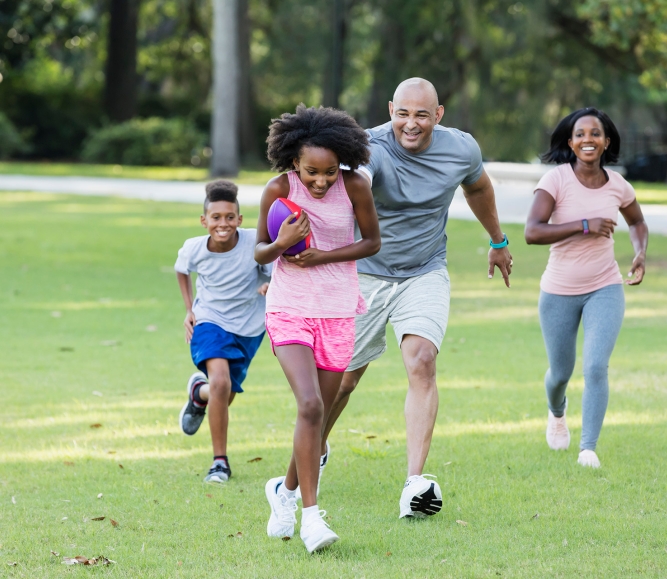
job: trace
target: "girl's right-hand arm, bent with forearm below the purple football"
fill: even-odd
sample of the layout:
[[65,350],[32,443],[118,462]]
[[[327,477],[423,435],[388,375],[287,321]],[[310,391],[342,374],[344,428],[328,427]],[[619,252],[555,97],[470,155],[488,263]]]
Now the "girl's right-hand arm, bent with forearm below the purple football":
[[345,180],[345,189],[354,209],[354,216],[359,226],[361,239],[350,245],[331,251],[310,248],[293,257],[286,255],[285,259],[290,263],[294,263],[299,267],[312,267],[324,263],[356,261],[357,259],[375,255],[380,251],[382,244],[380,239],[380,224],[378,223],[375,203],[373,202],[373,193],[371,192],[368,180],[354,171],[345,171],[343,178]]

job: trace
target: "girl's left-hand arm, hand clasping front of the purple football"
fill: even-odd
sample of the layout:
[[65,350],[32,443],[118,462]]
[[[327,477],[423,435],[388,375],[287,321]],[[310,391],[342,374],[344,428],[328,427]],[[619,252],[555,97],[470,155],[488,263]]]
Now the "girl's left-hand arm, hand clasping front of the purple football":
[[259,219],[257,220],[257,245],[255,246],[255,261],[260,265],[272,263],[282,253],[305,239],[310,233],[310,222],[305,211],[301,212],[301,216],[289,223],[294,216],[289,216],[280,226],[278,237],[275,241],[271,241],[269,236],[269,228],[266,224],[266,217],[269,214],[269,209],[273,202],[279,197],[287,198],[289,195],[289,180],[287,175],[279,175],[271,179],[264,188],[262,193],[262,201],[259,205]]

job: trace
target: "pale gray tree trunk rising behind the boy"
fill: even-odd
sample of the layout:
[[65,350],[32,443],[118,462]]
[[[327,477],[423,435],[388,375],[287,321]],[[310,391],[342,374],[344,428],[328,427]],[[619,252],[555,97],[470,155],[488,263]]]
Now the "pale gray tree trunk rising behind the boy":
[[211,176],[239,170],[238,0],[213,0],[213,116]]

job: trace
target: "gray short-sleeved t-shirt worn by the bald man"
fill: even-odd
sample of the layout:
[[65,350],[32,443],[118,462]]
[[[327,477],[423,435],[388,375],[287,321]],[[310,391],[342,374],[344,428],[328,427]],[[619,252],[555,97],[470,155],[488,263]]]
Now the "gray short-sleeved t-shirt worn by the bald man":
[[[482,153],[468,133],[436,125],[431,144],[414,154],[396,142],[391,122],[366,131],[382,248],[357,271],[400,281],[447,266],[447,215],[460,184],[482,175]],[[359,235],[357,235],[357,238]]]

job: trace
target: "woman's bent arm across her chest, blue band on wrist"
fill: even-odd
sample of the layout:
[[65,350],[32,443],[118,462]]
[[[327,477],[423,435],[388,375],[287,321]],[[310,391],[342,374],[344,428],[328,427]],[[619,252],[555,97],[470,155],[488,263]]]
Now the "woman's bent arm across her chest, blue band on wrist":
[[[528,245],[550,245],[573,235],[583,235],[584,225],[581,221],[557,225],[549,223],[555,206],[556,200],[544,189],[535,191],[533,205],[530,208],[524,230]],[[588,219],[590,235],[611,237],[615,225],[616,222],[613,219],[602,219],[601,217]]]

